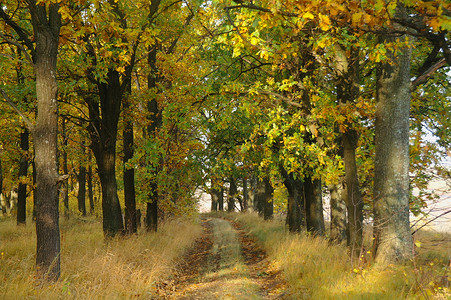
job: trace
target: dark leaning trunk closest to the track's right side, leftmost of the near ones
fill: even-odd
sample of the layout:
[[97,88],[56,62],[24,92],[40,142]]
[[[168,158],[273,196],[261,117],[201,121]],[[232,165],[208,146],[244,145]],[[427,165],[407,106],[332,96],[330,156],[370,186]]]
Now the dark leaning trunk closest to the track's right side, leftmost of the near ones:
[[305,226],[304,183],[301,179],[295,179],[292,173],[288,174],[283,167],[280,171],[288,191],[286,220],[288,230],[300,232],[301,228]]

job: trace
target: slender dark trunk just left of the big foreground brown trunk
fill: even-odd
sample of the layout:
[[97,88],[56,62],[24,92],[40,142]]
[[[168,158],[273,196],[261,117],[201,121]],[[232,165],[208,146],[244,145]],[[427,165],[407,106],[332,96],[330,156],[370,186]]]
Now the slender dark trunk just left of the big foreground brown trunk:
[[28,173],[28,129],[20,133],[20,148],[22,155],[19,162],[19,187],[17,189],[17,225],[27,223],[27,184],[24,179]]

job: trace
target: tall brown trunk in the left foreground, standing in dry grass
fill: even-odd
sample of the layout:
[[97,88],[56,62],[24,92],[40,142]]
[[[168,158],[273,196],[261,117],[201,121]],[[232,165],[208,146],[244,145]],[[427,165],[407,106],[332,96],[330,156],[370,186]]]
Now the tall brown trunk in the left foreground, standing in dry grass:
[[56,280],[60,276],[56,61],[61,15],[56,3],[49,4],[48,8],[34,3],[28,6],[36,41],[34,69],[38,112],[33,129],[36,153],[36,266],[39,277]]

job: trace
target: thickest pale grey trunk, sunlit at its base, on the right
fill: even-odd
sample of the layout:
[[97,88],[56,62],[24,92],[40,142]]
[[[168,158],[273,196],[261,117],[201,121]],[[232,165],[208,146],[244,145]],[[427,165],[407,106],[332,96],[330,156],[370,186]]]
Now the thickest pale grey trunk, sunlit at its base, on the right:
[[377,69],[373,253],[375,262],[382,265],[412,258],[409,227],[411,47],[405,45],[406,39],[390,32],[381,35],[383,42],[398,46],[397,54],[387,49],[390,61],[381,62]]

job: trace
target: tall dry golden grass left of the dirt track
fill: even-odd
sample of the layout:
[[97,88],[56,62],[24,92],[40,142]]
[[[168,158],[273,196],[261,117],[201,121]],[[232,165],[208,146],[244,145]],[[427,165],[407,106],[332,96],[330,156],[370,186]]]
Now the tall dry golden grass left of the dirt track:
[[199,224],[177,219],[162,224],[158,233],[106,242],[99,220],[62,220],[61,278],[39,285],[33,227],[0,221],[0,299],[149,299],[202,231]]

